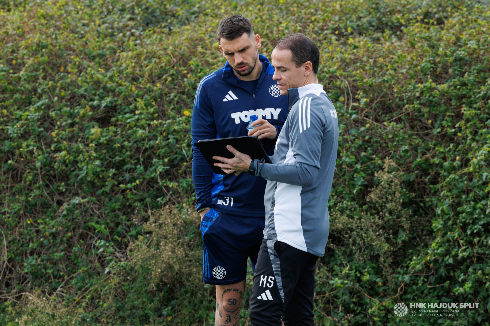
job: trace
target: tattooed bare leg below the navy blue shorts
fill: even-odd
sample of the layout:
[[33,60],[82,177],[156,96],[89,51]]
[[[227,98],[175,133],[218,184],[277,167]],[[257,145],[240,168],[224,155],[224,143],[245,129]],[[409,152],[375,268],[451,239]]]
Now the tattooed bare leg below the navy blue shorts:
[[216,285],[216,326],[240,325],[244,292],[245,280],[236,284]]

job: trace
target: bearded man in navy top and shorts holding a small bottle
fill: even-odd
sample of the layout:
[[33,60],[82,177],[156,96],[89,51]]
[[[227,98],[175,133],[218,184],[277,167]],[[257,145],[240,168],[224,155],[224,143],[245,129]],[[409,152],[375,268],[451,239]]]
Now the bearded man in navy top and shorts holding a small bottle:
[[[258,53],[261,39],[247,18],[225,18],[218,27],[218,40],[227,62],[202,78],[197,87],[192,177],[204,243],[203,281],[216,284],[215,325],[239,325],[247,257],[254,268],[263,238],[267,181],[248,174],[214,174],[194,144],[204,139],[257,136],[272,155],[288,102],[272,79],[269,60]],[[253,115],[258,120],[247,132]]]

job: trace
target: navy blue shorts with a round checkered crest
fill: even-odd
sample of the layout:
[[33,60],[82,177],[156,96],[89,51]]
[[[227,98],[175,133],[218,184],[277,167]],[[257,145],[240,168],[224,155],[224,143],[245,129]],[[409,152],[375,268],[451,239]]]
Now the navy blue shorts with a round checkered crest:
[[246,277],[250,257],[255,268],[265,217],[243,217],[211,209],[201,221],[204,250],[202,280],[208,284],[234,284]]

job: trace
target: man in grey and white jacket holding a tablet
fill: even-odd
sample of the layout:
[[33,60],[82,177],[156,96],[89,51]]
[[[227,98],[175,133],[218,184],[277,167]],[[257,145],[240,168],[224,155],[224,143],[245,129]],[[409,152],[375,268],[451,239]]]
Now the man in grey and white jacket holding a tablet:
[[[319,49],[303,34],[286,36],[272,51],[273,79],[288,95],[288,117],[271,158],[215,157],[226,173],[267,182],[266,224],[250,300],[253,326],[313,326],[315,267],[328,239],[328,197],[337,159],[335,107],[319,85]],[[281,321],[282,319],[282,321]]]

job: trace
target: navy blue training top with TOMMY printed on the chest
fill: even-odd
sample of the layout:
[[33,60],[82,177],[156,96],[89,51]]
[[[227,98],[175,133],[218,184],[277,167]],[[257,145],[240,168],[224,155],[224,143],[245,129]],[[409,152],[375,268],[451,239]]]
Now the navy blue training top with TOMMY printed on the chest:
[[[288,116],[288,97],[279,93],[272,79],[274,68],[259,55],[262,72],[256,92],[237,81],[231,66],[206,75],[199,83],[192,114],[192,179],[196,189],[196,209],[212,207],[240,216],[265,216],[264,192],[267,181],[248,173],[218,175],[194,145],[201,139],[246,136],[249,116],[267,119],[279,135]],[[277,138],[276,138],[277,139]],[[264,139],[268,155],[273,155],[276,139]]]

